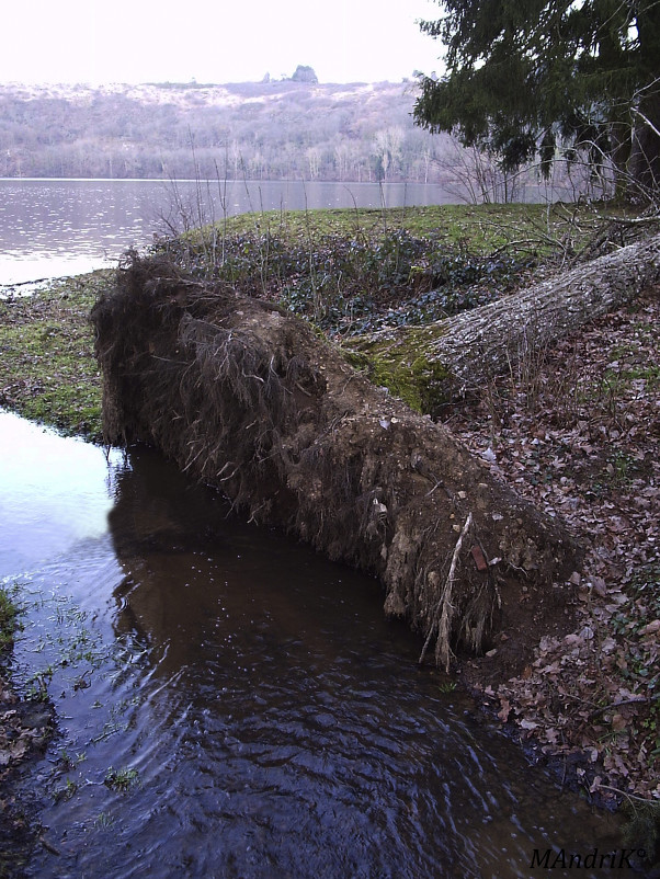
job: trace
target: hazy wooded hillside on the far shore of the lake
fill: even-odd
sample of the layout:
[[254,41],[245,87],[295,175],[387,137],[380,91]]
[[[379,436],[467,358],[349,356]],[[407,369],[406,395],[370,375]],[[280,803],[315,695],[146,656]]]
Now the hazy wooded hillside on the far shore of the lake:
[[440,181],[417,84],[0,85],[0,176]]

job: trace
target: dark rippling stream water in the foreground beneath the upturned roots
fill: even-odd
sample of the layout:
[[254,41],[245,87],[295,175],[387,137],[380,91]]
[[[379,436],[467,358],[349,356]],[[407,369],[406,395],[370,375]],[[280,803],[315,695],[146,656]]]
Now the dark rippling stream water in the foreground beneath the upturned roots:
[[621,846],[417,665],[377,583],[156,453],[0,413],[0,522],[15,677],[58,717],[27,876],[527,879]]

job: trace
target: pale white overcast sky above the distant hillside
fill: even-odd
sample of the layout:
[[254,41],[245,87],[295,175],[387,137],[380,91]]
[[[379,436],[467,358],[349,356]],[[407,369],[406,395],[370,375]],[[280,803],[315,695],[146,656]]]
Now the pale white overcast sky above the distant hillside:
[[11,0],[0,82],[241,82],[314,67],[321,82],[440,70],[416,19],[433,0]]

